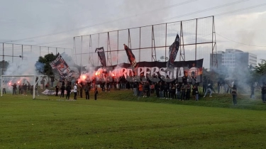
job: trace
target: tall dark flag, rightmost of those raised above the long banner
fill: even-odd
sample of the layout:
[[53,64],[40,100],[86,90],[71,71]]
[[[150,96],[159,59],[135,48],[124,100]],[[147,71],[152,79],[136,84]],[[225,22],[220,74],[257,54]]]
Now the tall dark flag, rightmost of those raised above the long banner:
[[179,50],[179,35],[177,34],[177,37],[174,40],[174,43],[169,47],[169,60],[166,63],[166,71],[173,71],[174,70],[174,60],[177,57],[177,52]]

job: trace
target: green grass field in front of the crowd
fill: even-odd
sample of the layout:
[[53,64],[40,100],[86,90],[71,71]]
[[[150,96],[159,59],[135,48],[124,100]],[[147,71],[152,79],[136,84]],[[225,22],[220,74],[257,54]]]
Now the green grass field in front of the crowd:
[[229,94],[177,101],[129,90],[58,99],[4,94],[0,148],[266,148],[266,104],[245,94],[238,106]]

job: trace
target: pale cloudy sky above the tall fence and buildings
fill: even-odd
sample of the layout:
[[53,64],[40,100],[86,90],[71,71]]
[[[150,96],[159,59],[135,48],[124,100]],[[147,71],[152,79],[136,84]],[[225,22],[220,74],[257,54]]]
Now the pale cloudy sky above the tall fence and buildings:
[[264,0],[1,0],[0,43],[73,48],[73,37],[214,16],[216,49],[266,59]]

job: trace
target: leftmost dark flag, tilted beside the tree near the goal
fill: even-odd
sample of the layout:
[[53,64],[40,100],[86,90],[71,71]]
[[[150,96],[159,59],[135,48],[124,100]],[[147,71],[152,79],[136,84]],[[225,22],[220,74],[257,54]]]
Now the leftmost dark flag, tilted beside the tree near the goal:
[[52,69],[57,69],[57,71],[60,73],[60,77],[71,77],[72,72],[70,72],[70,67],[68,67],[67,62],[62,58],[60,53],[58,53],[57,58],[50,62],[50,65]]

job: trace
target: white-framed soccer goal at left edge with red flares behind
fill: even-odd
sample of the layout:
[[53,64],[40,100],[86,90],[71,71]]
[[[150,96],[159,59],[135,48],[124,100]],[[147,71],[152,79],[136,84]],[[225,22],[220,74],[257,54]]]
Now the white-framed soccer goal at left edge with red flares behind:
[[43,94],[46,75],[1,75],[1,96],[33,96],[33,99],[49,99]]

